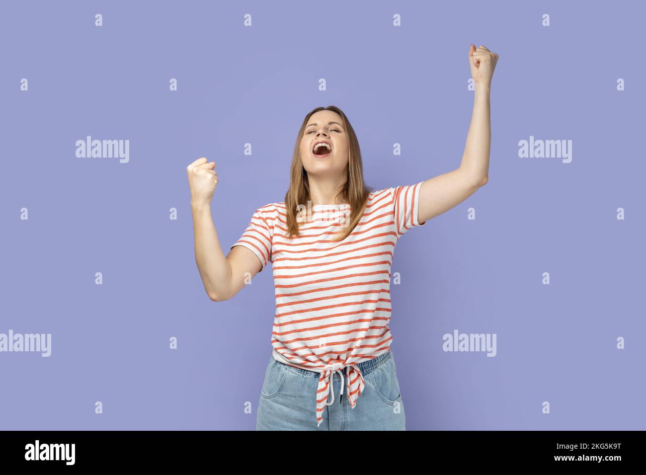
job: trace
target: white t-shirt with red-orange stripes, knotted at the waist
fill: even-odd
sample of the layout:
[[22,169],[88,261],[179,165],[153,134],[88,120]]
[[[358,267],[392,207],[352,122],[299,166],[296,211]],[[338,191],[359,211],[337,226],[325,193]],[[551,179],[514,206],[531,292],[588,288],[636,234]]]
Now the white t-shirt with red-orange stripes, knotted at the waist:
[[331,375],[338,371],[343,378],[340,370],[348,366],[346,394],[354,408],[364,390],[357,363],[390,350],[393,250],[408,229],[424,225],[417,221],[421,184],[372,191],[357,226],[340,242],[332,239],[346,229],[349,204],[311,206],[300,236],[286,237],[281,202],[257,209],[231,246],[251,249],[262,269],[271,261],[276,295],[272,354],[281,363],[321,373],[318,425],[329,405]]

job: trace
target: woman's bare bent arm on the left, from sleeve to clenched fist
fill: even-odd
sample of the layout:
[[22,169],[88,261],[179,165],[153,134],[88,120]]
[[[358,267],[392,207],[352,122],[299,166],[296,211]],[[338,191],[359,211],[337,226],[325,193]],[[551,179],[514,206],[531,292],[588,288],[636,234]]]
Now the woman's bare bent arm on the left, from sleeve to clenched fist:
[[187,167],[187,174],[191,188],[195,262],[204,290],[211,300],[218,302],[231,299],[242,290],[260,271],[262,263],[242,246],[234,246],[225,257],[211,217],[211,199],[218,184],[214,168],[215,162],[207,163],[202,157]]

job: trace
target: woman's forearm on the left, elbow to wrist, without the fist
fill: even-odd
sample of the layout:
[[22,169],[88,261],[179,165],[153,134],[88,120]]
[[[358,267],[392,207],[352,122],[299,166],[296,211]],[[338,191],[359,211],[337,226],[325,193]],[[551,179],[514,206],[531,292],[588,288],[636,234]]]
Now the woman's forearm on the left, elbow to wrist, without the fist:
[[211,206],[208,203],[191,203],[195,262],[200,271],[204,290],[211,299],[222,298],[231,282],[231,266],[222,251],[216,232]]

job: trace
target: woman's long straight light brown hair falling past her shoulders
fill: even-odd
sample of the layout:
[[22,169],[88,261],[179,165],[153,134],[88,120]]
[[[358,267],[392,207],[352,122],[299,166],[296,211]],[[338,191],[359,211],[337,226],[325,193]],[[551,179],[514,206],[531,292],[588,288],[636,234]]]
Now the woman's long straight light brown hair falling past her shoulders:
[[332,111],[339,114],[343,120],[346,133],[348,134],[348,178],[346,183],[340,187],[337,195],[335,195],[335,198],[339,195],[345,196],[345,202],[350,205],[351,209],[349,217],[346,216],[346,229],[340,233],[338,238],[333,239],[333,241],[342,241],[348,237],[349,233],[351,233],[353,229],[355,229],[361,216],[363,216],[364,210],[366,209],[366,203],[368,202],[368,195],[372,189],[367,187],[364,183],[363,165],[361,162],[361,151],[359,149],[357,134],[355,134],[346,114],[344,114],[339,107],[334,105],[329,105],[328,107],[317,107],[313,111],[309,112],[300,126],[300,131],[298,131],[298,137],[294,147],[294,155],[291,161],[289,189],[287,189],[287,193],[285,194],[287,235],[298,236],[300,234],[298,232],[299,222],[297,220],[297,215],[299,215],[299,211],[302,213],[302,208],[307,207],[307,202],[311,201],[307,172],[305,167],[303,167],[303,162],[300,157],[300,142],[303,138],[307,121],[309,121],[312,114],[318,111]]

